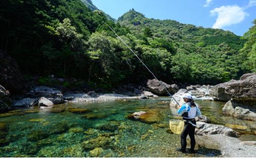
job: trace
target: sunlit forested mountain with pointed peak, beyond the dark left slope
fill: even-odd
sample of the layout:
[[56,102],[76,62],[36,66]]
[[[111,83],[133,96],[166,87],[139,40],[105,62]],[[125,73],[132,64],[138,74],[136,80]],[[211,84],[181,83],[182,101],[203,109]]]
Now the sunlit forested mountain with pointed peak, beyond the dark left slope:
[[245,40],[229,31],[149,19],[134,9],[119,17],[118,22],[136,35],[146,35],[150,43],[158,39],[172,43],[176,52],[170,71],[179,81],[227,81],[250,71],[242,70],[243,57],[239,52]]

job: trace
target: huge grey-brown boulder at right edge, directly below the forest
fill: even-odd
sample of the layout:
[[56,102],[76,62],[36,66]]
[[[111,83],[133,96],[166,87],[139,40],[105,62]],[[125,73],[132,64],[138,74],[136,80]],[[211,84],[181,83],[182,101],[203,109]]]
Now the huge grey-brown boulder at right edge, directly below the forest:
[[240,80],[231,80],[214,86],[210,94],[215,100],[253,100],[256,101],[256,73],[247,73]]

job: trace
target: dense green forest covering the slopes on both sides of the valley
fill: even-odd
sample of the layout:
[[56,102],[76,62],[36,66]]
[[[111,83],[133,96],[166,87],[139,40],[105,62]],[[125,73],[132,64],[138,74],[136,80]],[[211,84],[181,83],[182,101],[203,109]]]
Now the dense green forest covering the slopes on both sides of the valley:
[[219,29],[148,19],[134,10],[115,24],[80,0],[5,0],[0,6],[0,49],[26,74],[110,85],[152,78],[105,23],[167,83],[216,84],[255,71],[255,27],[240,39]]

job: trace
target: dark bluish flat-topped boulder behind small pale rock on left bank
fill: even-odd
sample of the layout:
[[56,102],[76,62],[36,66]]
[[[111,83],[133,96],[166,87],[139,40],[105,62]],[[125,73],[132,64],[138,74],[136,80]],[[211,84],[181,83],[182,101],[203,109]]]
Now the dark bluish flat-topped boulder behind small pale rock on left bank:
[[46,86],[38,86],[38,87],[35,87],[30,92],[31,92],[32,96],[46,97],[47,99],[51,100],[54,104],[59,104],[59,103],[65,102],[62,92],[55,88],[50,88],[50,87],[46,87]]

